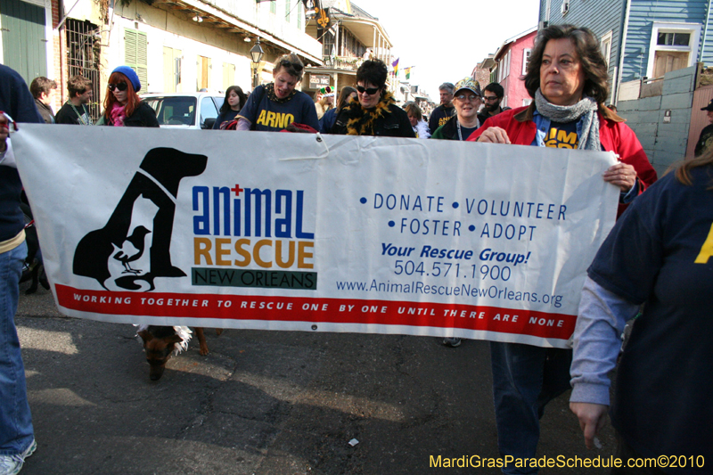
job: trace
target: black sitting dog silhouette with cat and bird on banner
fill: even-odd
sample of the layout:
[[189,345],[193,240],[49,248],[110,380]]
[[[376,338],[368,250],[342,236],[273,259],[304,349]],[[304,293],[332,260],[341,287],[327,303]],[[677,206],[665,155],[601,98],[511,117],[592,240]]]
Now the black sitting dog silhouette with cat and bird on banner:
[[176,149],[146,153],[107,224],[79,241],[74,274],[128,291],[152,291],[156,277],[184,277],[170,252],[178,184],[201,175],[207,162],[205,155]]

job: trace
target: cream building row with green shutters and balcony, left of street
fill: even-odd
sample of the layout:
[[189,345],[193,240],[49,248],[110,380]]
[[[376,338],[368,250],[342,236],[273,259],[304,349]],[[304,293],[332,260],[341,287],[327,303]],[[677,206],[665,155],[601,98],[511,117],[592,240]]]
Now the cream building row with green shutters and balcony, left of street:
[[[256,71],[258,83],[272,80],[283,53],[323,64],[322,45],[305,32],[302,0],[0,1],[2,62],[28,83],[54,79],[61,90],[55,109],[67,98],[67,79],[81,74],[94,82],[98,115],[106,79],[122,64],[136,70],[142,92],[166,93],[232,85],[249,91]],[[15,26],[39,20],[44,27],[29,33]],[[250,48],[257,38],[265,54],[256,65]]]

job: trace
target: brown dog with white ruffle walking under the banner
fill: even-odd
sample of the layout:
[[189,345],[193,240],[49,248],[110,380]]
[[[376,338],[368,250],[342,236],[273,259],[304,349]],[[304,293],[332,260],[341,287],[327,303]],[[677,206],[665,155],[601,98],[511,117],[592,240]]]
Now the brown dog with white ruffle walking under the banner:
[[[221,332],[223,331],[216,330],[218,335]],[[136,334],[143,340],[146,361],[151,366],[149,377],[152,381],[160,380],[171,354],[177,355],[184,349],[188,349],[188,341],[191,340],[191,331],[185,326],[140,325]],[[195,327],[195,334],[201,346],[199,353],[202,356],[208,355],[208,344],[203,329]]]

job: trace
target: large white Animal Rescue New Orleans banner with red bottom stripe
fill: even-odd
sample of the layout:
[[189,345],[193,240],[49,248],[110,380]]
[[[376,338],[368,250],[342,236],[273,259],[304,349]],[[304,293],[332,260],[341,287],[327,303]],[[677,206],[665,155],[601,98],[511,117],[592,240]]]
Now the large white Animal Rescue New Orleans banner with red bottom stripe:
[[66,315],[565,347],[619,190],[608,152],[23,125]]

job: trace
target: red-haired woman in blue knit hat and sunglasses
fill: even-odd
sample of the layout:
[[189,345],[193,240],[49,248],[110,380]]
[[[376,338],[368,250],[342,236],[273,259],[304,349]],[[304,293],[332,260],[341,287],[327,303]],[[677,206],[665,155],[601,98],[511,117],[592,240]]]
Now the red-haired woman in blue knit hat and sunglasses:
[[156,112],[136,94],[140,90],[141,81],[135,70],[128,66],[119,66],[111,71],[104,97],[104,111],[97,125],[159,127]]

